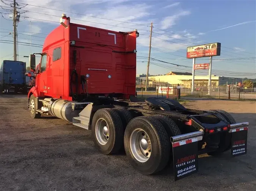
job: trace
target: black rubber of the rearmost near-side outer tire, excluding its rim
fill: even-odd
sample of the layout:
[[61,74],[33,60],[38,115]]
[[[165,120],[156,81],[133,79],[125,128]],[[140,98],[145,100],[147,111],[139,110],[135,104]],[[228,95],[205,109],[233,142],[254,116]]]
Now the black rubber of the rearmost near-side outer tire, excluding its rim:
[[[137,160],[130,148],[130,137],[135,129],[142,129],[151,141],[151,155],[146,162]],[[154,174],[161,171],[170,156],[170,139],[163,125],[152,117],[135,117],[124,132],[124,149],[130,164],[142,174]]]

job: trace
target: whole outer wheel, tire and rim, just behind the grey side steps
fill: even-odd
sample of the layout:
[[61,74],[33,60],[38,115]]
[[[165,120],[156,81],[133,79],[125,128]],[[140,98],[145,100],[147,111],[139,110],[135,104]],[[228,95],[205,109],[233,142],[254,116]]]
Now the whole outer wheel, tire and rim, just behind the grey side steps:
[[113,109],[97,110],[93,116],[91,130],[94,145],[103,154],[114,154],[123,145],[122,120]]

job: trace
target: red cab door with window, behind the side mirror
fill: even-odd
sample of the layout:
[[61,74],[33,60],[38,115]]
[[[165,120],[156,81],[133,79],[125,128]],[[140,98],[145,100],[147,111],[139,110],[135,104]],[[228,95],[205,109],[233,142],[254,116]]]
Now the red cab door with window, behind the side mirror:
[[42,55],[38,74],[38,89],[42,94],[47,94],[47,52]]

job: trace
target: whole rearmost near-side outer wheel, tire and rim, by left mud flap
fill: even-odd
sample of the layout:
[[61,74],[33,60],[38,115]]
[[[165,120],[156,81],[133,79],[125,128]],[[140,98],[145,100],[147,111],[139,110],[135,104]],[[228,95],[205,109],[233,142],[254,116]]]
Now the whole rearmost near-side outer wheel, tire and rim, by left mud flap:
[[161,171],[170,156],[170,139],[159,120],[135,117],[124,132],[124,149],[133,168],[143,174]]

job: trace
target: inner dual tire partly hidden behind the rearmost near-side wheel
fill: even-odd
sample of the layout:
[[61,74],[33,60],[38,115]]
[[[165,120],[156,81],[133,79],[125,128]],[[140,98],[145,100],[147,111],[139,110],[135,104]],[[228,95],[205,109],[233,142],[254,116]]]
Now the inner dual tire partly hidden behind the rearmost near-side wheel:
[[[159,120],[159,122],[163,125],[163,127],[165,128],[165,130],[167,132],[170,145],[171,145],[170,137],[181,135],[181,130],[179,129],[177,124],[171,118],[169,118],[167,116],[163,116],[163,115],[154,115],[151,117],[153,119]],[[170,157],[169,157],[168,161],[171,162],[172,159],[173,159],[173,149],[172,149],[172,146],[170,146]]]

